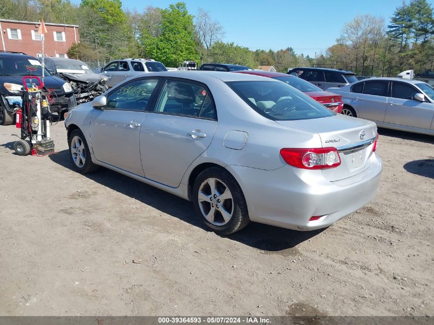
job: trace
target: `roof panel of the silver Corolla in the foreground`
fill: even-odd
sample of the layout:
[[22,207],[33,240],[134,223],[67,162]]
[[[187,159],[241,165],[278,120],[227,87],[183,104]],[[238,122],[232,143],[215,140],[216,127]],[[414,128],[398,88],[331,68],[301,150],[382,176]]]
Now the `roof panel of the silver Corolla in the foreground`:
[[191,70],[191,71],[161,71],[161,72],[148,72],[136,74],[132,79],[143,77],[171,77],[190,79],[198,82],[210,82],[212,80],[221,80],[222,82],[228,81],[270,81],[279,82],[274,79],[261,77],[259,75],[247,74],[247,73],[233,73],[225,71],[203,71],[203,70]]

